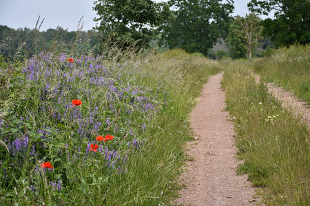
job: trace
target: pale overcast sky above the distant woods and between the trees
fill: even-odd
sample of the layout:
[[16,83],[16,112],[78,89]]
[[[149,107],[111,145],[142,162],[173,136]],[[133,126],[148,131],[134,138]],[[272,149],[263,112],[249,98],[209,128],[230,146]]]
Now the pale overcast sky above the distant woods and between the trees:
[[[157,0],[164,1],[164,0]],[[167,0],[166,0],[167,1]],[[245,16],[249,0],[234,0],[235,12]],[[92,10],[93,0],[0,0],[0,25],[17,29],[28,27],[33,29],[37,19],[45,18],[41,31],[57,26],[69,31],[76,30],[79,20],[83,17],[83,30],[91,30],[96,25]],[[263,16],[262,16],[263,17]]]

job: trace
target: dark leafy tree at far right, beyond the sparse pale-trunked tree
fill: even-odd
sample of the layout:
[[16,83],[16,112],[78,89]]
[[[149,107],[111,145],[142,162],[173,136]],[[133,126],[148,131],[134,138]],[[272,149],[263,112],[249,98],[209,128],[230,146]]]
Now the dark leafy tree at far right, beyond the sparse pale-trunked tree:
[[263,34],[280,45],[310,43],[309,0],[251,0],[249,10],[260,14],[274,12],[274,19],[265,19]]

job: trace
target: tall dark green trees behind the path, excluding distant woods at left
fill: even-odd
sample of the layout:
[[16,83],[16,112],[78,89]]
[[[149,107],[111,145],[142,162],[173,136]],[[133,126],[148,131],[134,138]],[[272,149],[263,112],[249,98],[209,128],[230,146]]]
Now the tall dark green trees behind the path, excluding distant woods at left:
[[[94,5],[99,16],[95,29],[101,36],[101,49],[111,40],[121,49],[128,45],[148,47],[159,37],[159,45],[182,48],[189,53],[251,59],[264,55],[262,50],[269,45],[289,47],[310,42],[308,0],[251,0],[247,4],[251,13],[234,17],[233,1],[99,0]],[[269,18],[262,20],[259,14]],[[211,50],[218,39],[224,39],[229,52]]]

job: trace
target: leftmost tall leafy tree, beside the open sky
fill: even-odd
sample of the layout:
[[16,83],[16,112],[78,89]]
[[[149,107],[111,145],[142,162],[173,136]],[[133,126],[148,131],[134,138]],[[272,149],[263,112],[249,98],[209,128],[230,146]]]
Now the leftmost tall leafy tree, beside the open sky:
[[147,43],[158,34],[158,26],[169,19],[167,3],[150,0],[99,0],[93,10],[99,15],[95,29],[101,35],[101,49],[107,42],[125,48],[136,45],[147,47]]

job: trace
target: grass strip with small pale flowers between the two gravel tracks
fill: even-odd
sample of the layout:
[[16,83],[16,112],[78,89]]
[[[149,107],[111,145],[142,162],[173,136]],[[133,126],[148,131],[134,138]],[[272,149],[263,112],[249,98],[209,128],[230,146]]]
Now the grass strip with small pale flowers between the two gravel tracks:
[[225,71],[227,110],[236,130],[238,172],[262,187],[266,205],[309,205],[309,130],[256,84],[249,67],[234,62]]

